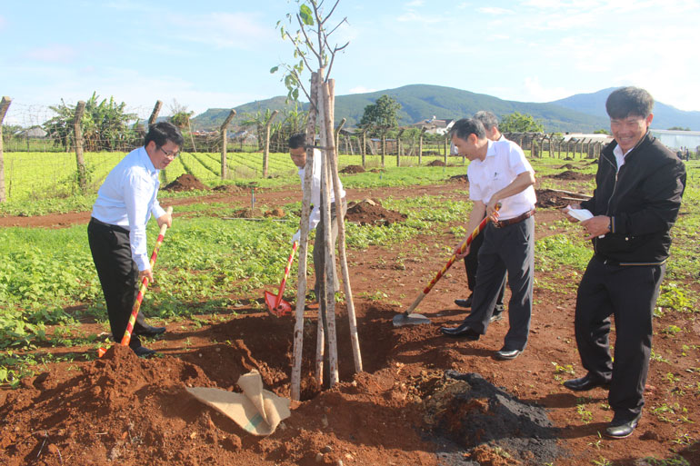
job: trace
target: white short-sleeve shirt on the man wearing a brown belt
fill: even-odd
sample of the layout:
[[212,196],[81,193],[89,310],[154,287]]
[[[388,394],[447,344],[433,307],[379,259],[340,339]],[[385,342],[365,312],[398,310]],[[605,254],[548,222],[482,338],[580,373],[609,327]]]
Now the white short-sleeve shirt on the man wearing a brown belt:
[[[507,139],[489,141],[485,159],[473,160],[466,169],[469,199],[487,204],[495,193],[513,183],[515,177],[524,172],[535,173],[535,170],[518,144]],[[533,210],[536,202],[535,188],[528,186],[524,191],[501,200],[498,218],[515,218]]]

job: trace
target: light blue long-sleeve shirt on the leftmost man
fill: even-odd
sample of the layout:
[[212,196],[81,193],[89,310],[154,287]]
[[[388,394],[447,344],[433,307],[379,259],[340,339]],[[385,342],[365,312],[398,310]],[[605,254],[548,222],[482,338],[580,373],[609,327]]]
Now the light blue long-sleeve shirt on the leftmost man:
[[129,231],[131,257],[139,271],[150,269],[145,243],[145,225],[151,218],[165,214],[155,198],[160,182],[157,170],[145,147],[139,147],[116,164],[97,192],[93,217],[103,223]]

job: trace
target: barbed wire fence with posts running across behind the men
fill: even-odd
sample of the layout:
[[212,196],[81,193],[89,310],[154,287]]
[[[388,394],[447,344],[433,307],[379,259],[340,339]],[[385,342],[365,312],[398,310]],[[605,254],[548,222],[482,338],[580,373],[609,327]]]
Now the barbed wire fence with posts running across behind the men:
[[[158,120],[162,105],[161,101],[153,108],[122,104],[122,113],[132,120],[110,125],[95,121],[99,118],[94,116],[83,119],[82,101],[57,108],[4,97],[0,104],[0,202],[96,193],[115,164],[143,144],[145,128]],[[56,126],[59,112],[66,109],[72,112],[70,118]],[[171,183],[183,174],[210,185],[294,175],[287,141],[296,125],[275,121],[276,111],[266,121],[248,119],[245,125],[233,125],[235,114],[231,109],[224,124],[211,131],[193,131],[187,119],[181,128],[185,135],[181,156],[161,171],[161,183]],[[344,124],[345,120],[335,128],[341,168],[349,164],[364,168],[465,164],[464,157],[450,154],[448,134],[404,128],[377,136],[363,130],[347,131]],[[554,134],[505,136],[533,157],[596,158],[602,146],[590,140],[565,141]]]

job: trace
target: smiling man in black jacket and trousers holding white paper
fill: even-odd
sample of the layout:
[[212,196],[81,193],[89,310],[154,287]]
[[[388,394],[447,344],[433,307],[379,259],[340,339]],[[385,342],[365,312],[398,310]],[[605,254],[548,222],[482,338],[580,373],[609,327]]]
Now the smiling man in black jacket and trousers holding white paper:
[[[578,287],[575,335],[588,373],[564,382],[575,392],[609,387],[615,415],[605,435],[625,438],[642,417],[652,343],[652,317],[685,189],[685,165],[649,133],[654,99],[623,87],[605,108],[615,141],[600,156],[593,197],[574,209],[594,216],[581,224],[594,256]],[[580,212],[564,210],[576,221]],[[615,318],[615,358],[609,350]]]

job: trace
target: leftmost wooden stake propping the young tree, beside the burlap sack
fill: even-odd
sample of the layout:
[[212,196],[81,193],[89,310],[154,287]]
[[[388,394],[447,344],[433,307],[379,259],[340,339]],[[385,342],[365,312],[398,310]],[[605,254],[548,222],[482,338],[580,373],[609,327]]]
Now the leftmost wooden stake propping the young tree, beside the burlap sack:
[[[294,353],[292,356],[292,400],[299,401],[301,396],[301,370],[302,348],[304,346],[304,307],[306,301],[306,263],[308,256],[309,239],[309,214],[311,213],[311,176],[313,171],[314,137],[316,133],[316,114],[318,105],[316,95],[319,77],[317,73],[311,74],[311,102],[309,103],[309,116],[306,121],[306,164],[304,171],[304,194],[302,196],[302,213],[299,221],[299,271],[296,275],[296,309]],[[320,306],[319,306],[320,307]],[[320,325],[320,323],[319,323]]]

